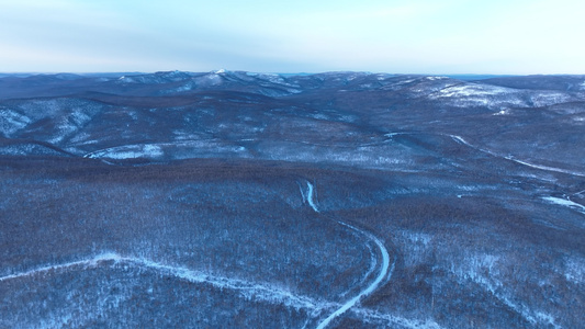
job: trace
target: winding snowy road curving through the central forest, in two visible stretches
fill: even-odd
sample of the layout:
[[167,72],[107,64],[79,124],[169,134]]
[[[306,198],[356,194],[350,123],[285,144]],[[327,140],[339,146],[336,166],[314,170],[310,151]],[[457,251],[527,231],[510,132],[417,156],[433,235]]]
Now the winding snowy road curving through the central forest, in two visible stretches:
[[[317,205],[315,204],[315,200],[314,200],[314,186],[310,182],[306,182],[306,184],[307,184],[306,201],[307,201],[308,205],[313,208],[313,211],[315,211],[315,213],[319,213],[319,209],[318,209]],[[384,247],[384,243],[382,243],[382,241],[379,238],[376,238],[374,235],[372,235],[370,232],[361,230],[361,229],[359,229],[359,228],[357,228],[355,226],[351,226],[351,225],[349,225],[347,223],[344,223],[344,222],[340,222],[340,220],[336,220],[336,222],[339,223],[340,225],[344,225],[344,226],[346,226],[346,227],[348,227],[348,228],[350,228],[350,229],[352,229],[352,230],[365,236],[368,239],[373,241],[378,246],[378,248],[380,249],[380,253],[382,254],[382,266],[381,266],[380,273],[378,274],[375,280],[368,287],[365,287],[365,290],[361,291],[356,297],[353,297],[353,298],[347,300],[346,303],[344,303],[339,308],[337,308],[326,319],[324,319],[317,326],[317,329],[326,328],[335,318],[339,317],[340,315],[346,313],[348,309],[353,307],[356,304],[358,304],[358,302],[360,302],[361,298],[372,294],[380,286],[380,284],[384,280],[384,277],[386,277],[387,275],[392,275],[392,271],[394,270],[394,262],[392,263],[392,265],[390,264],[390,254],[387,252],[387,249]]]

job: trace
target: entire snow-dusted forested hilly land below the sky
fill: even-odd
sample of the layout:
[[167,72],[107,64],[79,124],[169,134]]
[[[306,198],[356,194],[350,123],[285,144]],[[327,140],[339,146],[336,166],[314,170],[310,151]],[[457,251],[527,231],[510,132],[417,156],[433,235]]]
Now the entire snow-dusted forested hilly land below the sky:
[[578,328],[585,77],[0,77],[2,328]]

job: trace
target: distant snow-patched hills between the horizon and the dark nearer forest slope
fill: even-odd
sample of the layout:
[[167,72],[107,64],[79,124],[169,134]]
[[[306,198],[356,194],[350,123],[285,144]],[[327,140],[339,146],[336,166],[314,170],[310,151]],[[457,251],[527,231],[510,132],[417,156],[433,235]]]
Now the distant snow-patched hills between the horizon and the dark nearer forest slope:
[[[585,164],[583,148],[560,150],[583,145],[584,104],[585,76],[473,81],[228,70],[10,76],[0,78],[0,134],[78,157],[220,156],[392,168],[393,161],[409,161],[414,150],[400,156],[400,146],[384,136],[425,132],[462,135],[503,155],[573,168]],[[282,155],[288,147],[305,156]],[[38,148],[26,149],[3,152]]]

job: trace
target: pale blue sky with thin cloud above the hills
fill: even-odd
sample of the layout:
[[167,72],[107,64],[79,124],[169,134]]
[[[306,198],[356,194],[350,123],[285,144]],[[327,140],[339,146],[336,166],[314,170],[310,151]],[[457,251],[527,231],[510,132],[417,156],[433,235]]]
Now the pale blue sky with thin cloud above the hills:
[[583,0],[0,0],[0,72],[585,73]]

